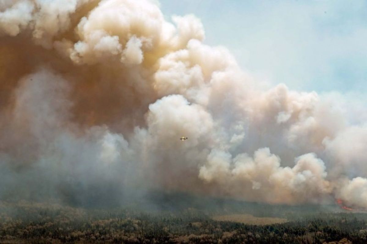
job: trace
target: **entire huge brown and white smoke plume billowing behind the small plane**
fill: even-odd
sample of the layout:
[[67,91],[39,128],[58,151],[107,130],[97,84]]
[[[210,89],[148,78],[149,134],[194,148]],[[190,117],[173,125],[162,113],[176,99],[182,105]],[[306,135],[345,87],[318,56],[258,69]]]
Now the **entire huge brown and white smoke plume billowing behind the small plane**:
[[160,190],[367,208],[367,127],[353,105],[264,89],[203,44],[195,16],[172,24],[145,0],[0,11],[1,199]]

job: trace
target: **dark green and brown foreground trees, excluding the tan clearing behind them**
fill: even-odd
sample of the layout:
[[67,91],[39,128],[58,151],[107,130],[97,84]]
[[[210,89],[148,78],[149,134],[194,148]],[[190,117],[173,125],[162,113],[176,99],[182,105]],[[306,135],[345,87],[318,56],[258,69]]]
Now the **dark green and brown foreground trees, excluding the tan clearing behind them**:
[[214,221],[195,209],[153,214],[59,206],[2,210],[0,242],[8,243],[367,243],[366,214],[314,213],[259,226]]

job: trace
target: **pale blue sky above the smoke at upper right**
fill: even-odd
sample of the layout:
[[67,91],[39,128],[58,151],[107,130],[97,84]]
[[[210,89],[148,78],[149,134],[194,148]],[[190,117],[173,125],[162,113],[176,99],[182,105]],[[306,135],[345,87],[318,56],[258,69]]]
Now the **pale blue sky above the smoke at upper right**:
[[169,20],[194,14],[261,80],[296,90],[367,91],[366,0],[159,0]]

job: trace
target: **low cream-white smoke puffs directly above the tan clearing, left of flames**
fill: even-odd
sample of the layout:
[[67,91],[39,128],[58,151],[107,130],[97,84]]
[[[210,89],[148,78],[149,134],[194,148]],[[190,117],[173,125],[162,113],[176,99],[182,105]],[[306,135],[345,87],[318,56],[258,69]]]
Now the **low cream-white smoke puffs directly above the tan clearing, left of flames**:
[[301,155],[290,168],[281,167],[280,158],[268,148],[257,150],[253,158],[239,154],[232,159],[229,153],[212,151],[199,177],[208,182],[219,181],[237,197],[293,204],[317,202],[331,193],[325,169],[314,154]]

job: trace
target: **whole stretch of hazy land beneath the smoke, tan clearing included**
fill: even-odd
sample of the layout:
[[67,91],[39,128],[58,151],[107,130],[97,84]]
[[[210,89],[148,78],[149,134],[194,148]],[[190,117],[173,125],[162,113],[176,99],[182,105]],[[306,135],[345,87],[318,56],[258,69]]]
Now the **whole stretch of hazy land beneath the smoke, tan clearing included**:
[[[186,202],[178,200],[182,197]],[[150,198],[149,204],[147,201],[108,209],[55,202],[3,201],[0,202],[0,243],[367,241],[366,213],[354,213],[338,206],[289,207],[199,199],[163,194]]]

